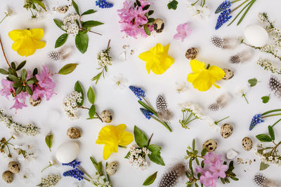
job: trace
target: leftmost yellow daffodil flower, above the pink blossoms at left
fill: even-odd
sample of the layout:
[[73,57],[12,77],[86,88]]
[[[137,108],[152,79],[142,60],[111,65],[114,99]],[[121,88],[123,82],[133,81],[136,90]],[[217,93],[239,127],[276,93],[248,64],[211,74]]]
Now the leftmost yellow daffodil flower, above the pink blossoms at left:
[[9,32],[8,36],[15,41],[12,49],[20,56],[33,55],[35,50],[46,46],[46,42],[40,41],[44,36],[43,29],[15,29]]

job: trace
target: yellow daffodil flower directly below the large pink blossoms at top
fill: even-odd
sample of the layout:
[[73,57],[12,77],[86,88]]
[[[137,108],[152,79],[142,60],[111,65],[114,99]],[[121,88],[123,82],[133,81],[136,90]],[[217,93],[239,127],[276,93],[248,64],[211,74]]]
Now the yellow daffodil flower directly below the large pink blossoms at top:
[[171,64],[174,64],[174,58],[168,55],[169,46],[170,44],[162,46],[161,43],[157,43],[150,50],[138,55],[141,60],[146,62],[148,74],[150,74],[150,70],[157,75],[163,74],[171,67]]

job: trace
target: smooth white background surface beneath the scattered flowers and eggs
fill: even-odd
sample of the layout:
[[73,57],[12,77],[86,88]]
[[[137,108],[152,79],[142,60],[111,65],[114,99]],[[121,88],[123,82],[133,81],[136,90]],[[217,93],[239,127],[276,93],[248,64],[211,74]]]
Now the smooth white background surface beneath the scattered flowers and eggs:
[[[51,3],[54,1],[49,1],[49,8],[51,8]],[[41,134],[37,137],[24,137],[23,139],[16,139],[13,141],[15,144],[34,144],[36,147],[37,160],[34,162],[22,163],[22,170],[30,168],[34,173],[35,178],[32,183],[25,184],[24,181],[20,180],[20,174],[15,175],[15,181],[10,185],[4,183],[0,180],[0,186],[34,186],[40,182],[41,176],[46,176],[48,173],[60,173],[62,174],[70,167],[52,167],[46,169],[44,173],[40,173],[41,169],[48,165],[48,161],[51,156],[55,154],[56,149],[60,144],[69,140],[67,137],[67,128],[72,126],[78,126],[83,130],[82,137],[77,140],[79,144],[80,151],[78,159],[81,161],[82,167],[86,169],[87,172],[93,173],[95,169],[91,164],[89,159],[90,156],[94,156],[96,160],[100,161],[103,158],[103,146],[95,144],[98,132],[105,125],[101,124],[99,120],[86,120],[87,111],[81,111],[81,117],[79,120],[71,121],[66,116],[64,116],[62,111],[63,98],[72,92],[75,81],[79,80],[86,90],[89,86],[93,86],[96,92],[96,106],[99,112],[104,109],[110,109],[113,111],[112,125],[119,125],[124,123],[128,126],[127,130],[133,132],[133,125],[138,125],[148,136],[154,133],[152,138],[152,144],[158,144],[162,146],[162,158],[166,163],[166,166],[170,166],[175,162],[183,161],[185,156],[185,149],[187,146],[192,144],[192,139],[197,140],[197,148],[201,150],[202,143],[207,139],[216,139],[218,141],[218,148],[216,153],[221,153],[226,157],[226,152],[233,148],[235,151],[239,152],[240,158],[247,159],[257,159],[254,155],[253,150],[246,152],[242,149],[241,140],[243,137],[251,137],[254,141],[254,146],[258,144],[258,141],[254,138],[256,134],[266,132],[266,126],[273,124],[277,118],[266,119],[266,123],[259,124],[254,130],[249,132],[249,123],[255,113],[261,113],[268,111],[270,109],[280,108],[280,100],[275,96],[270,95],[270,101],[268,104],[263,104],[261,102],[261,97],[264,95],[269,95],[268,90],[268,80],[270,78],[270,72],[264,71],[261,67],[256,65],[256,60],[259,56],[263,55],[257,51],[254,51],[254,57],[248,62],[242,64],[230,64],[228,59],[231,55],[236,55],[244,49],[248,49],[245,46],[238,46],[233,50],[220,50],[212,46],[209,39],[213,35],[218,36],[242,36],[243,29],[250,24],[259,24],[257,19],[257,14],[259,12],[266,11],[269,15],[270,20],[275,20],[277,25],[281,27],[280,20],[280,5],[281,2],[275,1],[265,1],[259,0],[247,14],[243,22],[236,27],[233,24],[231,27],[223,26],[218,31],[215,31],[214,27],[216,24],[216,18],[218,15],[214,15],[214,11],[218,4],[222,1],[207,1],[207,5],[211,9],[211,15],[209,19],[198,21],[192,18],[188,13],[184,0],[180,0],[178,4],[178,9],[176,11],[168,10],[166,4],[168,1],[157,0],[155,4],[152,5],[152,9],[155,10],[154,17],[162,18],[165,22],[164,32],[161,34],[152,34],[152,36],[147,39],[133,39],[126,38],[123,33],[119,32],[119,23],[117,16],[117,9],[122,7],[122,1],[115,1],[115,6],[111,9],[101,10],[96,8],[95,1],[77,1],[81,11],[86,11],[90,8],[98,10],[97,13],[93,15],[86,15],[85,20],[99,20],[100,22],[105,22],[105,25],[95,28],[96,32],[100,32],[103,36],[98,36],[89,33],[89,48],[88,51],[82,55],[78,50],[74,50],[73,55],[65,62],[51,62],[46,57],[46,54],[53,50],[55,40],[63,34],[63,32],[58,29],[53,23],[53,18],[62,19],[64,15],[59,13],[53,13],[48,15],[46,20],[32,23],[28,22],[30,18],[30,13],[22,8],[23,0],[2,0],[0,6],[0,13],[4,15],[4,8],[6,5],[13,6],[17,15],[8,18],[0,25],[1,39],[3,40],[4,46],[6,48],[6,55],[10,62],[22,62],[27,60],[26,68],[33,69],[34,67],[41,67],[42,64],[47,64],[52,72],[57,72],[60,67],[63,67],[67,63],[79,63],[77,69],[70,75],[67,76],[54,76],[54,80],[57,83],[54,95],[50,101],[46,102],[44,100],[37,107],[29,106],[28,108],[18,111],[15,115],[14,111],[8,111],[13,104],[10,100],[8,101],[5,97],[0,97],[1,106],[6,109],[6,113],[9,115],[14,115],[14,120],[19,123],[29,123],[33,122],[41,127]],[[59,4],[65,5],[67,1],[60,1]],[[69,13],[74,12],[71,8]],[[176,26],[184,23],[190,22],[193,32],[184,42],[175,41],[173,39],[174,34],[176,34]],[[8,38],[8,32],[13,29],[26,29],[26,28],[37,28],[41,27],[45,31],[44,41],[46,41],[46,47],[37,52],[30,57],[20,57],[15,51],[11,50],[12,41]],[[96,63],[96,53],[103,50],[107,46],[107,41],[112,39],[112,57],[114,63],[112,67],[108,68],[106,74],[106,79],[101,78],[98,85],[94,85],[91,82],[91,78],[98,74],[98,64]],[[138,54],[146,50],[149,50],[156,43],[162,43],[166,45],[171,43],[169,55],[174,57],[175,63],[162,75],[147,74],[145,69],[145,62],[138,59]],[[135,50],[134,55],[127,53],[126,62],[119,62],[118,55],[123,52],[122,46],[129,45],[130,50]],[[70,36],[67,39],[65,46],[74,46],[74,39]],[[200,49],[200,54],[197,60],[204,61],[206,63],[211,63],[217,65],[221,68],[230,68],[235,70],[235,76],[230,79],[230,81],[219,81],[218,84],[221,85],[221,89],[211,88],[207,92],[199,92],[192,88],[192,85],[188,83],[188,91],[178,95],[174,91],[174,83],[186,81],[188,73],[190,73],[189,60],[185,58],[185,50],[190,47],[197,47]],[[4,58],[1,54],[0,67],[6,68]],[[266,55],[263,55],[266,56]],[[274,60],[274,59],[273,59]],[[274,60],[277,62],[277,60]],[[147,120],[143,114],[139,111],[139,105],[137,103],[136,97],[129,89],[125,90],[113,90],[112,87],[112,77],[117,74],[122,73],[125,78],[128,78],[130,85],[138,85],[145,89],[147,98],[155,103],[155,100],[159,94],[164,94],[166,96],[167,102],[169,104],[169,109],[174,112],[174,118],[171,120],[171,126],[174,130],[173,133],[168,132],[162,125],[156,123],[152,120]],[[207,106],[215,101],[215,99],[220,96],[223,92],[230,92],[230,94],[235,95],[235,88],[237,85],[247,85],[247,80],[249,78],[256,77],[259,83],[251,88],[247,92],[247,99],[249,104],[247,104],[241,97],[233,97],[232,101],[225,109],[217,112],[211,112],[207,109]],[[4,76],[1,76],[4,78]],[[234,132],[228,139],[223,139],[219,132],[214,132],[207,123],[202,121],[196,121],[190,124],[190,130],[185,130],[178,123],[178,119],[181,118],[181,109],[178,107],[178,103],[191,101],[197,102],[204,109],[204,113],[211,116],[214,119],[221,119],[226,116],[230,116],[225,123],[232,123],[234,126]],[[89,106],[89,102],[85,102],[86,106]],[[60,113],[58,117],[57,112]],[[57,116],[51,118],[51,116]],[[6,129],[4,124],[1,125],[1,137],[9,137],[9,131]],[[220,123],[223,125],[223,123]],[[44,138],[49,131],[54,134],[54,142],[52,153],[48,151],[48,147],[44,142]],[[280,139],[280,125],[276,126],[276,137]],[[143,181],[156,171],[158,172],[157,180],[152,186],[157,186],[157,182],[160,176],[164,173],[165,168],[160,165],[155,165],[155,163],[150,162],[150,167],[144,171],[141,169],[135,169],[129,165],[128,160],[124,159],[128,151],[127,149],[119,148],[118,153],[113,153],[107,162],[118,161],[119,169],[117,173],[111,177],[112,182],[115,187],[131,187],[131,186],[141,186]],[[103,161],[105,163],[105,161]],[[8,161],[1,159],[0,168],[1,172],[6,170]],[[280,179],[280,167],[269,167],[263,174],[266,174],[268,178]],[[256,161],[249,165],[237,165],[235,162],[235,173],[237,174],[240,181],[231,181],[227,186],[254,186],[251,179],[256,172],[259,172],[259,161]],[[186,179],[183,179],[178,186],[186,186]],[[63,178],[58,186],[74,186],[77,181],[72,178]],[[86,183],[86,186],[91,186]],[[223,186],[220,181],[218,181],[218,186]]]

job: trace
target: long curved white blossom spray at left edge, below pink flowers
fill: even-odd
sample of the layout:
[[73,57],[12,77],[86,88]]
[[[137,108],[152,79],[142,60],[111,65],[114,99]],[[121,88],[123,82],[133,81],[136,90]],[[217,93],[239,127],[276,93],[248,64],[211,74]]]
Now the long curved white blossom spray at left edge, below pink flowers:
[[6,127],[12,129],[14,132],[19,134],[26,134],[29,136],[35,136],[39,134],[39,127],[34,126],[33,124],[27,124],[25,126],[19,125],[18,123],[13,122],[12,117],[6,116],[4,114],[4,109],[0,110],[0,121],[6,124]]

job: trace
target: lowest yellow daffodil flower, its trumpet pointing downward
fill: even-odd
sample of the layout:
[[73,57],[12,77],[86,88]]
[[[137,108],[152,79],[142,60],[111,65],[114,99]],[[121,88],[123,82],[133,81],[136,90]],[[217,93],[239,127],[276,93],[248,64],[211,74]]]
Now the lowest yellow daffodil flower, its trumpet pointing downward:
[[107,125],[98,133],[96,144],[105,144],[103,148],[103,159],[107,160],[111,153],[118,152],[118,146],[127,146],[133,141],[133,134],[126,132],[126,125]]

